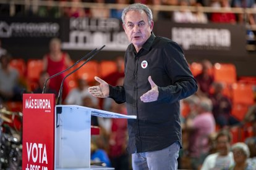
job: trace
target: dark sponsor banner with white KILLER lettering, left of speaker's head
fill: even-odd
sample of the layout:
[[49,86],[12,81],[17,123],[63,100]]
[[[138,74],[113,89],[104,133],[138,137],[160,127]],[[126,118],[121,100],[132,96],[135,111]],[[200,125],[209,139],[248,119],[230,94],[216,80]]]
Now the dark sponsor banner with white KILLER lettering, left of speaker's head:
[[106,45],[103,51],[126,51],[129,45],[116,18],[69,18],[65,23],[62,49],[92,50]]

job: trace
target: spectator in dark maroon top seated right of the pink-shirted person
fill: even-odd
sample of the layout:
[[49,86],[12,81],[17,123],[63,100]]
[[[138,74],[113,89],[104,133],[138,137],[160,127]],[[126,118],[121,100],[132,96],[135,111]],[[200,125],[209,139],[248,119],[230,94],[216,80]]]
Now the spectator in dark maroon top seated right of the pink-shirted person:
[[213,84],[213,89],[214,92],[210,95],[210,99],[213,102],[213,116],[216,124],[221,127],[238,125],[239,121],[231,115],[231,100],[223,95],[223,84],[216,82]]

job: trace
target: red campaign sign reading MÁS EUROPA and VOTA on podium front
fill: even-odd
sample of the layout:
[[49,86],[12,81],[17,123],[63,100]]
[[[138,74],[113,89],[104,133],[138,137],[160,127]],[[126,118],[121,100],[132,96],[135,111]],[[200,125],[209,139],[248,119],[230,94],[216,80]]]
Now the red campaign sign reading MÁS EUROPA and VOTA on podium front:
[[22,169],[54,169],[54,94],[23,94]]

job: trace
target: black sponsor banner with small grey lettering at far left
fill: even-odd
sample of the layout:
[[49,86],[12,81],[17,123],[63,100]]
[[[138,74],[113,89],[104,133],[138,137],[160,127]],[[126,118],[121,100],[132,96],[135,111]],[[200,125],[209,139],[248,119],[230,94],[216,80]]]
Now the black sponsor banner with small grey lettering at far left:
[[5,44],[44,44],[59,37],[60,20],[51,18],[1,17],[0,38]]

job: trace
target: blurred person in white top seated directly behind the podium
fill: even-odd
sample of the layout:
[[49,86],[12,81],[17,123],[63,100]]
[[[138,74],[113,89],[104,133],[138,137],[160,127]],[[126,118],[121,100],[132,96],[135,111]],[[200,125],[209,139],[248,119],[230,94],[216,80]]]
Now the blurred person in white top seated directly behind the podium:
[[89,97],[90,99],[92,99],[92,104],[94,105],[93,108],[98,106],[98,99],[90,95],[90,93],[88,92],[87,81],[85,81],[85,79],[77,79],[77,84],[78,87],[72,89],[67,95],[65,103],[67,105],[83,105],[85,107],[92,107],[85,105],[85,101],[83,101],[85,97]]

